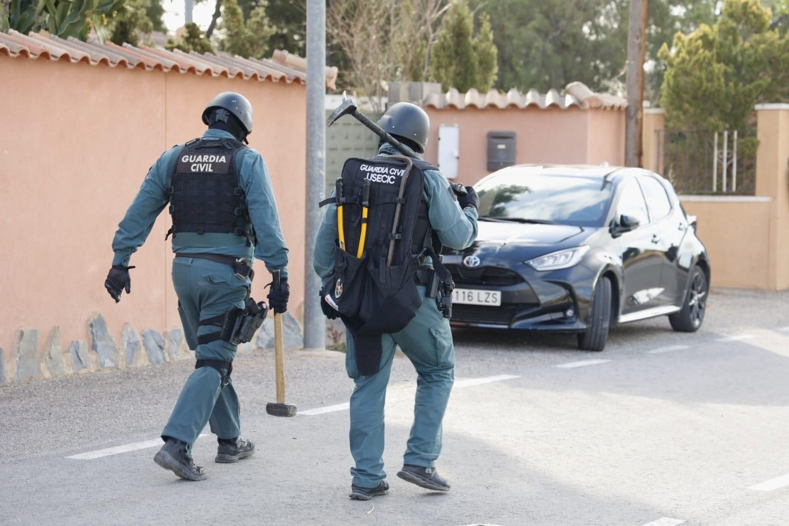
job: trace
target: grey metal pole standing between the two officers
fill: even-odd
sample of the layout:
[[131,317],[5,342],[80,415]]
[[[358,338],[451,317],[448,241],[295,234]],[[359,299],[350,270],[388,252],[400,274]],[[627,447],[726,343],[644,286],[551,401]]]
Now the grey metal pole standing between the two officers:
[[304,268],[304,346],[326,349],[326,319],[320,308],[320,278],[312,270],[318,203],[326,186],[326,0],[307,0],[307,185]]

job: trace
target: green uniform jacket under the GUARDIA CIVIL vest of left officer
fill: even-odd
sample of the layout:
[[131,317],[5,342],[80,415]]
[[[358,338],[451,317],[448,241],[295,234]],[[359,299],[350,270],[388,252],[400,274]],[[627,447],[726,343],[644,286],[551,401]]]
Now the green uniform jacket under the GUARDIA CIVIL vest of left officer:
[[[231,139],[233,136],[219,129],[208,129],[203,138],[216,140]],[[148,171],[140,191],[115,232],[112,241],[115,252],[113,265],[128,267],[132,254],[151,233],[156,218],[168,203],[166,188],[170,186],[170,175],[180,149],[181,146],[175,146],[164,152]],[[173,237],[173,252],[223,254],[250,261],[254,256],[263,260],[269,271],[282,270],[282,278],[287,278],[288,249],[282,238],[277,203],[266,163],[260,153],[252,148],[244,148],[237,152],[235,166],[239,185],[245,192],[249,218],[255,227],[257,244],[247,246],[245,237],[232,233],[179,233]]]

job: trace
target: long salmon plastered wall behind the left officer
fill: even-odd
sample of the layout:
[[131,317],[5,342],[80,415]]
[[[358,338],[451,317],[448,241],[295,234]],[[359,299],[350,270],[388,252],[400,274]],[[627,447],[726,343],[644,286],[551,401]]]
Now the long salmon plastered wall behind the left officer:
[[[180,326],[170,285],[166,211],[132,257],[132,293],[115,304],[103,287],[112,237],[162,151],[198,136],[201,109],[219,91],[256,108],[250,136],[267,161],[291,249],[294,311],[304,274],[305,88],[300,84],[143,72],[0,55],[0,347],[15,331],[53,326],[62,345],[88,341],[101,312],[120,344],[122,326]],[[287,159],[286,159],[287,158]],[[264,297],[262,264],[253,292]],[[8,353],[7,353],[8,354]],[[9,364],[14,367],[13,364]]]

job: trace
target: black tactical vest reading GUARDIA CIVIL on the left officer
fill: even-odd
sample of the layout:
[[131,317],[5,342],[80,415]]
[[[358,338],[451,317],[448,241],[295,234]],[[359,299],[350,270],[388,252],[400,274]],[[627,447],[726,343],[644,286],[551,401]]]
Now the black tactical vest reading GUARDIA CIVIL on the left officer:
[[235,166],[242,148],[245,145],[234,139],[195,139],[184,144],[167,188],[173,218],[167,235],[233,233],[246,237],[247,244],[255,242]]

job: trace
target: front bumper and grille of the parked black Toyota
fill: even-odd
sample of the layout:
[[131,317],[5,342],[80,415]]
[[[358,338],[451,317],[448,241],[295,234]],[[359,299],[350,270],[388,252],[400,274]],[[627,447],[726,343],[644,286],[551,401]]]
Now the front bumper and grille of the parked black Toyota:
[[[453,304],[452,326],[576,333],[587,329],[584,320],[594,276],[584,268],[537,272],[524,264],[488,267],[495,269],[497,279],[486,279],[485,270],[480,277],[469,278],[468,270],[451,256],[444,263],[456,288],[501,292],[498,307]],[[508,279],[502,278],[505,274]]]

